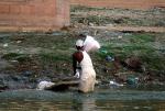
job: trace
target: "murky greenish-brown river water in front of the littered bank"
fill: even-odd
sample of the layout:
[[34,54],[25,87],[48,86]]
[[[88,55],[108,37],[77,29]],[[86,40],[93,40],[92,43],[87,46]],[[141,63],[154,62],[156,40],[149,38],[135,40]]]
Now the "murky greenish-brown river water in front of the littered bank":
[[84,95],[15,90],[0,93],[0,111],[165,111],[165,91],[96,89]]

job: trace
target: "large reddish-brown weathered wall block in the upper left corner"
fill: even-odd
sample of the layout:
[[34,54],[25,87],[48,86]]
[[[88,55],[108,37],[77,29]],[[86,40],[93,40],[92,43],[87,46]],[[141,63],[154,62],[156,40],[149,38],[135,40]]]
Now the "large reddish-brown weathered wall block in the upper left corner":
[[68,0],[0,0],[0,31],[48,31],[69,25]]

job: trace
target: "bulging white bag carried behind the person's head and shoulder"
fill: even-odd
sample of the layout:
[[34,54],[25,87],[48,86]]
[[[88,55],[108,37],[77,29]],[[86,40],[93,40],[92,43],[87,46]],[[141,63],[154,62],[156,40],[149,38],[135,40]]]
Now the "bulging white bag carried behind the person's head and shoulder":
[[84,47],[86,52],[92,52],[99,49],[100,44],[92,36],[87,35]]

